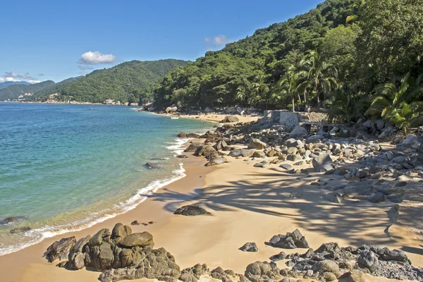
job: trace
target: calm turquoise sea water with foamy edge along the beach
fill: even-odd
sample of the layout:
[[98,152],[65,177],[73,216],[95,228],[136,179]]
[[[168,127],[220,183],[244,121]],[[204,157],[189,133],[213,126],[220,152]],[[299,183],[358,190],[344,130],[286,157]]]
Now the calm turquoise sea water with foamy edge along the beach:
[[0,103],[0,219],[23,216],[0,225],[0,255],[132,209],[185,176],[176,133],[209,127],[124,106]]

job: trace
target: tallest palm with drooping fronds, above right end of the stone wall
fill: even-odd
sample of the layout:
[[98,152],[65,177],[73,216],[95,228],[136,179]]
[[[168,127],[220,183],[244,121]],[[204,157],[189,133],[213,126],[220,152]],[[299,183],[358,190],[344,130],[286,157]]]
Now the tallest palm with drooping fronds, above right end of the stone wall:
[[307,51],[307,64],[309,66],[308,80],[312,81],[312,90],[317,95],[317,104],[320,104],[320,94],[325,94],[333,87],[337,87],[336,77],[338,71],[329,61],[324,61],[317,51]]

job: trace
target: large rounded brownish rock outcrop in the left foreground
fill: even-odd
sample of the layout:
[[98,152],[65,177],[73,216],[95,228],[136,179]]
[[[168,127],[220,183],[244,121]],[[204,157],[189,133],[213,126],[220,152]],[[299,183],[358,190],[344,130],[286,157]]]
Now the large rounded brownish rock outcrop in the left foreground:
[[76,240],[63,238],[53,243],[44,256],[49,262],[68,259],[58,264],[70,270],[92,267],[103,271],[102,282],[135,278],[157,278],[176,281],[180,276],[174,257],[164,248],[153,250],[153,236],[148,232],[132,233],[129,226],[117,223],[113,230],[102,229],[92,237]]

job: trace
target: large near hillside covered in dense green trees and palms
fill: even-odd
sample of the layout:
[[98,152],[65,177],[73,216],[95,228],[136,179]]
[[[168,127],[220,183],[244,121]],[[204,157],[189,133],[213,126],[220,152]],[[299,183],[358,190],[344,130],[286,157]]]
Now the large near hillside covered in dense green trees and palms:
[[422,35],[421,0],[327,0],[171,71],[156,106],[325,106],[422,71]]

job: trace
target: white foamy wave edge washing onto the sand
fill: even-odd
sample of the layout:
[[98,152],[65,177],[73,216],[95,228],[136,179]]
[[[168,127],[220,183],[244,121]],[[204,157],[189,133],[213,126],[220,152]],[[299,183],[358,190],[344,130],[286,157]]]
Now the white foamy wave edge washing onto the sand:
[[11,252],[17,252],[18,250],[22,250],[25,247],[29,247],[30,245],[35,245],[37,243],[42,242],[42,240],[46,238],[51,238],[55,235],[61,235],[63,233],[81,231],[85,228],[90,228],[91,226],[94,226],[97,223],[106,221],[107,219],[113,219],[118,215],[125,214],[125,212],[128,212],[131,209],[135,209],[138,204],[141,204],[142,202],[147,200],[149,195],[152,195],[154,192],[157,192],[157,190],[159,190],[160,188],[169,185],[175,182],[176,180],[184,178],[185,176],[185,168],[183,168],[183,164],[179,164],[179,168],[173,171],[173,176],[150,182],[144,188],[137,190],[137,193],[125,202],[114,204],[109,209],[103,209],[99,212],[93,212],[92,214],[90,214],[90,216],[87,216],[85,219],[79,221],[73,221],[71,223],[66,223],[59,226],[43,226],[41,228],[35,228],[23,234],[20,234],[24,235],[27,238],[30,238],[30,240],[20,245],[0,247],[0,256],[10,254]]

